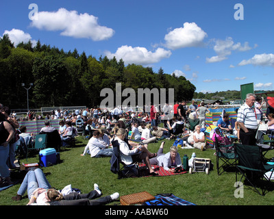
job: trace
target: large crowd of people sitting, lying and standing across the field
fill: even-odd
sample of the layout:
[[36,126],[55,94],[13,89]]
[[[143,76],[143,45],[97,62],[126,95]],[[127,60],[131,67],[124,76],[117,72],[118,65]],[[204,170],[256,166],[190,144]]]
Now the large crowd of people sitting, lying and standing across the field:
[[[255,103],[255,104],[254,104]],[[274,130],[274,114],[268,112],[267,115],[262,113],[262,100],[256,98],[255,94],[247,94],[245,104],[238,109],[235,128],[232,129],[232,124],[229,122],[229,115],[222,114],[217,122],[219,127],[225,133],[235,133],[238,140],[242,144],[256,144],[256,132],[258,124],[266,118],[269,130]],[[255,105],[256,110],[254,110]],[[20,138],[32,138],[32,133],[27,132],[27,127],[19,127],[16,119],[16,114],[11,114],[8,107],[1,107],[0,114],[0,186],[10,185],[10,170],[16,168],[14,166],[16,142]],[[148,144],[158,142],[158,140],[170,140],[176,138],[176,125],[184,125],[182,129],[182,137],[186,140],[186,144],[200,149],[206,149],[206,137],[203,129],[206,127],[205,118],[208,113],[208,107],[201,101],[199,105],[192,101],[191,105],[186,105],[186,101],[176,102],[174,105],[166,104],[160,110],[159,106],[151,105],[148,112],[134,112],[130,110],[123,112],[122,108],[114,107],[112,111],[101,110],[97,108],[75,110],[55,110],[51,115],[36,116],[29,112],[25,120],[45,119],[45,127],[40,132],[53,132],[55,128],[51,127],[50,120],[60,120],[60,127],[57,129],[58,136],[62,142],[66,142],[69,138],[77,135],[77,122],[82,121],[84,128],[84,136],[89,136],[88,144],[86,144],[82,156],[90,155],[90,157],[112,157],[114,151],[112,149],[112,140],[119,142],[119,150],[121,152],[121,160],[125,164],[133,162],[143,162],[149,170],[149,174],[156,175],[151,165],[163,166],[164,170],[174,171],[171,166],[182,166],[181,157],[177,153],[177,147],[171,146],[170,152],[164,154],[164,143],[162,141],[157,153],[149,151]],[[199,123],[195,125],[194,130],[185,132],[189,120],[197,120]],[[259,121],[259,122],[258,122]],[[39,170],[37,170],[39,171]],[[83,196],[67,197],[56,192],[55,190],[49,193],[50,185],[41,172],[30,172],[26,176],[33,181],[40,181],[42,184],[36,188],[29,188],[29,185],[23,184],[18,191],[18,194],[13,197],[14,200],[20,200],[25,191],[28,191],[29,205],[34,203],[47,203],[49,205],[97,205],[96,202],[90,201],[91,196],[83,194]],[[95,186],[95,192],[92,192],[92,197],[100,196],[99,189]],[[97,191],[97,192],[96,192]],[[40,196],[40,194],[43,194]],[[54,194],[55,198],[51,198]],[[38,198],[40,196],[40,198]],[[42,198],[41,198],[42,197]],[[56,200],[56,197],[61,197]],[[99,204],[109,203],[119,197],[119,194],[103,197]],[[67,199],[68,198],[68,199]],[[77,199],[78,201],[75,201]],[[82,200],[84,199],[84,201]],[[61,201],[62,200],[62,201]],[[70,200],[70,201],[69,201]],[[74,200],[74,201],[71,201]],[[82,200],[82,201],[79,201]],[[57,202],[56,202],[57,201]]]

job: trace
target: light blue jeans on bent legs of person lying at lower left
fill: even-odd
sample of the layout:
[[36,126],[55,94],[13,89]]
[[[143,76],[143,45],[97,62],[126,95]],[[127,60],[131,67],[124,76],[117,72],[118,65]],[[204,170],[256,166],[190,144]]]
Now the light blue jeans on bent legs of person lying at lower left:
[[44,172],[42,172],[42,170],[39,168],[35,170],[29,170],[29,172],[27,172],[27,175],[25,175],[25,178],[17,194],[23,196],[27,190],[27,196],[30,199],[34,190],[37,188],[43,188],[46,190],[51,188],[51,185],[49,184],[49,181],[47,181]]

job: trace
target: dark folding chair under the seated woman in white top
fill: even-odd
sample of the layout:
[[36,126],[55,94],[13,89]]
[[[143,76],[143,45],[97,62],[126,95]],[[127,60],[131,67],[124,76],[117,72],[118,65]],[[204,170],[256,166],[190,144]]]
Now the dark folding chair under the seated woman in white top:
[[[112,149],[113,153],[110,159],[110,170],[113,173],[118,174],[118,179],[138,175],[138,162],[127,165],[121,161],[119,142],[117,140],[112,140]],[[122,168],[120,168],[120,164],[123,165]]]

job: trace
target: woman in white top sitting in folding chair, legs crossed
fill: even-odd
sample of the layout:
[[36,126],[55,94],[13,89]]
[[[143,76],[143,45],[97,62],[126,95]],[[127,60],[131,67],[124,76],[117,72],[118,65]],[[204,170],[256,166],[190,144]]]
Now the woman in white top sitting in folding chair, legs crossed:
[[116,137],[114,138],[114,140],[118,140],[119,142],[119,150],[121,151],[121,161],[126,165],[129,165],[134,162],[142,162],[143,160],[147,168],[149,168],[149,173],[151,175],[157,175],[151,168],[151,164],[149,162],[149,158],[156,157],[157,154],[149,152],[147,150],[147,147],[140,144],[134,147],[134,149],[130,149],[129,145],[126,142],[124,142],[126,136],[127,131],[125,131],[125,129],[119,129],[116,133]]

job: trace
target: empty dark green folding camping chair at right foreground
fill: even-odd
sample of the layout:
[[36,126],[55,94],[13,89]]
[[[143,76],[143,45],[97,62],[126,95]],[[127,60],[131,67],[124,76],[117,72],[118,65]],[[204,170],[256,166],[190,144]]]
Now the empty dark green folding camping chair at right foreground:
[[[236,182],[238,183],[237,175],[241,175],[240,182],[245,177],[245,185],[264,196],[266,190],[271,189],[266,185],[272,183],[270,180],[273,175],[274,165],[264,164],[260,146],[236,144],[236,154],[238,155],[237,168],[239,170],[239,172],[236,172]],[[266,172],[270,172],[270,175],[266,175]],[[266,179],[266,181],[263,179]],[[262,190],[262,193],[258,188]]]

